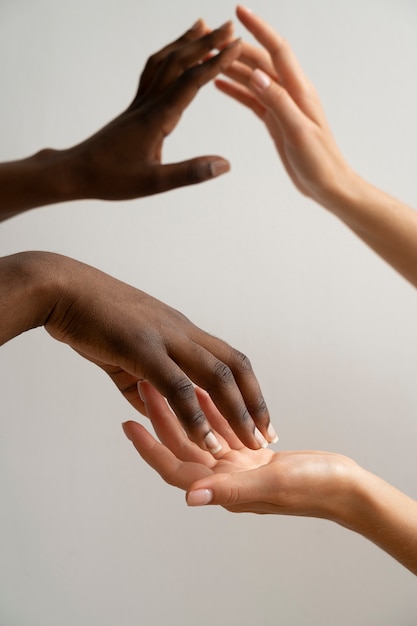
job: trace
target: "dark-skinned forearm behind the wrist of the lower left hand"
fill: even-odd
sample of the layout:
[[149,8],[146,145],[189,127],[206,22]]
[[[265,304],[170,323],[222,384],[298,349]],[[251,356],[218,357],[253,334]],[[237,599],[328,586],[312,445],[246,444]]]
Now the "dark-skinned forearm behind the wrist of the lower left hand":
[[0,345],[46,322],[58,291],[58,258],[22,252],[0,259]]

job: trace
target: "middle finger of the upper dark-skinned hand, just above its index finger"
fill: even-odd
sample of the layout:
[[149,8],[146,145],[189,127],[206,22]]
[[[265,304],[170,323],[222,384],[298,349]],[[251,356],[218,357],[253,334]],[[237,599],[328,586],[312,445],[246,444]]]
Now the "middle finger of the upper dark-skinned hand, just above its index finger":
[[179,78],[188,69],[205,65],[202,63],[206,58],[210,61],[213,57],[213,50],[222,50],[227,44],[232,42],[233,24],[226,22],[220,28],[191,41],[182,46],[176,46],[165,55],[159,71],[155,74],[155,79],[150,86],[147,95],[155,97],[165,91],[165,89]]

